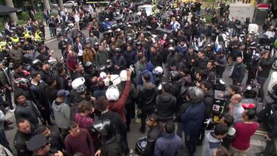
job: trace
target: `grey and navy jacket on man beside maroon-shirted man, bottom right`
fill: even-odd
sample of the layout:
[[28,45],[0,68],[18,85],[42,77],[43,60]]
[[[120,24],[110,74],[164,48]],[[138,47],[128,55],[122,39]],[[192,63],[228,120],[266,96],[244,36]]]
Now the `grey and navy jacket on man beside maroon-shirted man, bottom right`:
[[206,134],[202,155],[213,156],[213,150],[216,150],[221,145],[221,141],[213,137],[211,133],[213,133],[213,131]]

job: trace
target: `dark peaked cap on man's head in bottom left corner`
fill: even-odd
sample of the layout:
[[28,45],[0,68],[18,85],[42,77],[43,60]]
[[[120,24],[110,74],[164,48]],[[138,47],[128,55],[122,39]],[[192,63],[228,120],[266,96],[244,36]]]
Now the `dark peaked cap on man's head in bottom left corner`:
[[46,137],[43,134],[35,135],[28,141],[27,149],[34,151],[42,148],[43,146],[46,146],[47,144]]

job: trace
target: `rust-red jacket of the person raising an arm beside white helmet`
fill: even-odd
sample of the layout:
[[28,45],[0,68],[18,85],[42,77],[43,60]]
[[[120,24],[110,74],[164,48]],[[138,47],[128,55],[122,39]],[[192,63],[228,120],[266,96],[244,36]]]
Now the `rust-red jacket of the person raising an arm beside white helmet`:
[[127,80],[124,92],[123,92],[122,96],[118,99],[118,101],[110,101],[109,102],[109,110],[111,110],[113,112],[118,112],[118,114],[120,114],[123,122],[126,121],[124,106],[125,106],[128,96],[129,96],[130,89],[131,89],[131,82],[129,80]]

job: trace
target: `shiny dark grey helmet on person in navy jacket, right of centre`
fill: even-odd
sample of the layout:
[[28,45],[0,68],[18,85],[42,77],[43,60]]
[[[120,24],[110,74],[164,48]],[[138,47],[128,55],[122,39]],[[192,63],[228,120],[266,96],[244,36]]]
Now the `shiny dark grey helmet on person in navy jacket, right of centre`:
[[202,101],[205,97],[204,91],[199,87],[188,87],[186,94],[193,103]]

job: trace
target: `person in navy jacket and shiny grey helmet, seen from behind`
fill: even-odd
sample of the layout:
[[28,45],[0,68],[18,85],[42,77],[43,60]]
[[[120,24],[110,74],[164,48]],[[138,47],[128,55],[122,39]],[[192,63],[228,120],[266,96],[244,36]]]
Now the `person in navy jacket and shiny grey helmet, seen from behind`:
[[199,87],[189,87],[186,96],[191,101],[191,105],[186,112],[181,114],[181,123],[183,123],[186,148],[189,155],[193,156],[196,150],[197,136],[205,117],[205,106],[202,102],[205,94]]

